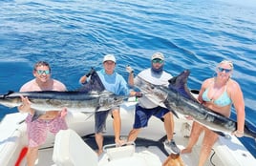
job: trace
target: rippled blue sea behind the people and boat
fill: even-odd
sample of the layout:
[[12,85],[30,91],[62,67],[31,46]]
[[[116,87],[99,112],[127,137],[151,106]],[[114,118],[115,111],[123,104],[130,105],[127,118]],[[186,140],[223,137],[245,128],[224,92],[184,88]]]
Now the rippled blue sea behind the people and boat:
[[[167,72],[191,71],[190,89],[200,89],[228,59],[244,93],[246,123],[256,131],[254,0],[2,0],[0,6],[0,93],[19,91],[39,60],[75,90],[106,53],[116,55],[117,73],[127,79],[126,65],[139,73],[163,52]],[[0,106],[0,119],[16,112]],[[256,156],[255,141],[241,140]]]

